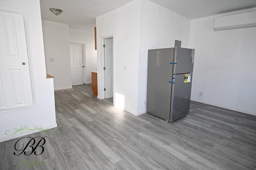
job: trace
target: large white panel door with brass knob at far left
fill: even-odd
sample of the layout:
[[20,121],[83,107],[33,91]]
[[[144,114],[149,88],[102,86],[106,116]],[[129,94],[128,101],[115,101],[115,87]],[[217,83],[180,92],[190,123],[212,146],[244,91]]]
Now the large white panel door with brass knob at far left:
[[33,106],[24,18],[0,11],[0,110]]

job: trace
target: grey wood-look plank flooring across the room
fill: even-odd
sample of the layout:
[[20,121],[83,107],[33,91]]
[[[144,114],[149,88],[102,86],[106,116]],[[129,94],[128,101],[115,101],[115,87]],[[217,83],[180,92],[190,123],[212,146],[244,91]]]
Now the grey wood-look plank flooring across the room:
[[191,102],[189,115],[167,123],[119,110],[112,100],[93,96],[90,84],[55,91],[58,127],[25,136],[46,137],[44,152],[15,156],[22,137],[2,142],[0,169],[256,169],[256,116]]

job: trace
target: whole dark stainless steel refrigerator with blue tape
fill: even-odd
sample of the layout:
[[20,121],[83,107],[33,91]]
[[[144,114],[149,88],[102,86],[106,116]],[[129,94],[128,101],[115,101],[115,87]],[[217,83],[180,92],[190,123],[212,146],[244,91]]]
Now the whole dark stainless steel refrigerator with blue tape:
[[147,112],[168,122],[188,115],[195,49],[148,50]]

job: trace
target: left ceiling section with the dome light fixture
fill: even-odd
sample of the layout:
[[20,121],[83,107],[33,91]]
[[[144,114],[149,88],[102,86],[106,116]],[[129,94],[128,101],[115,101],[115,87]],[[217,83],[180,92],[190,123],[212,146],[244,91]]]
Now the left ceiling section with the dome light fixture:
[[[96,17],[119,8],[132,0],[40,0],[42,20],[68,24],[70,28],[94,31]],[[49,10],[58,8],[55,16]]]

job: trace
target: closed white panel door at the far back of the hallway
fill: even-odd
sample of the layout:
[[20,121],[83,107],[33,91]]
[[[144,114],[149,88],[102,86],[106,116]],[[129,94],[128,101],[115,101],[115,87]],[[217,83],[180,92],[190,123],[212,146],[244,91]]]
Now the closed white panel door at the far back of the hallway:
[[84,55],[81,44],[70,44],[72,85],[84,83]]

